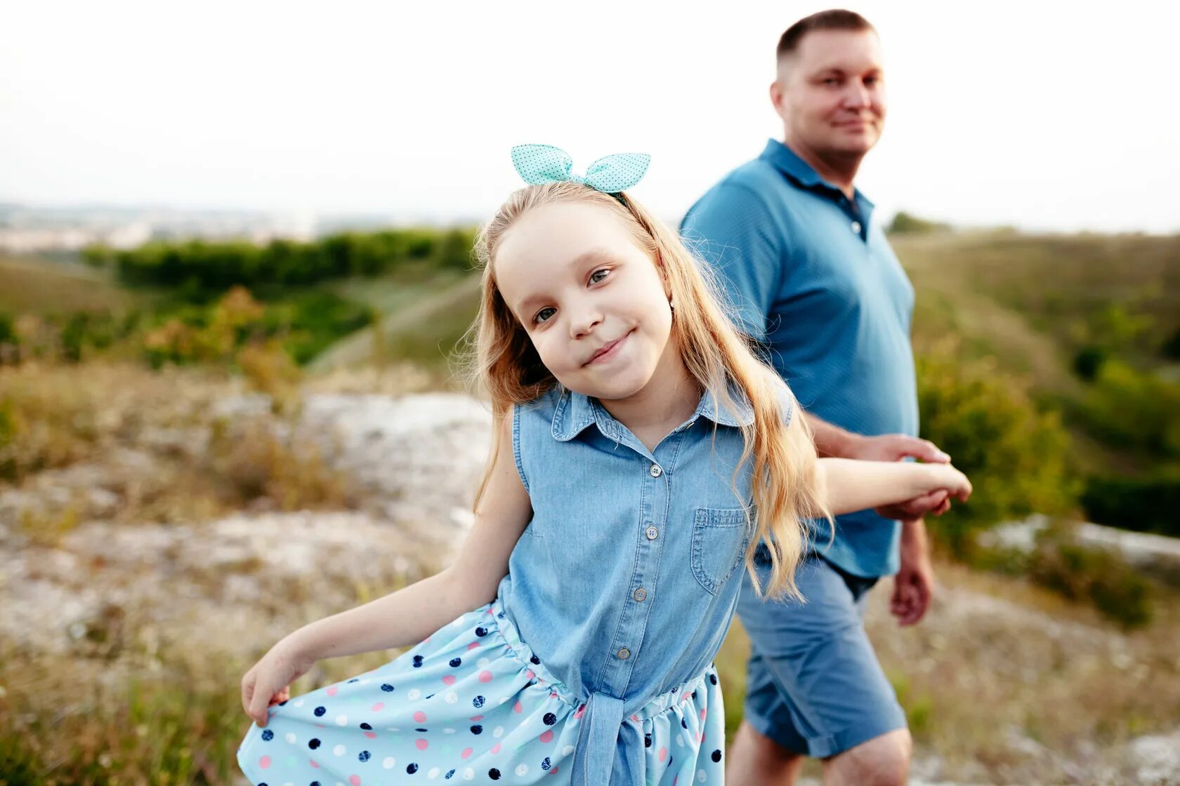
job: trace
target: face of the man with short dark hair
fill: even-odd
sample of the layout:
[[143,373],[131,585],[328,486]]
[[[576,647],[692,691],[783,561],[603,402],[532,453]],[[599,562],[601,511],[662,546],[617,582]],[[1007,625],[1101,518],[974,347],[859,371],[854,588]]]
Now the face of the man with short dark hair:
[[817,153],[864,156],[885,123],[880,40],[873,31],[812,31],[771,87],[787,138]]

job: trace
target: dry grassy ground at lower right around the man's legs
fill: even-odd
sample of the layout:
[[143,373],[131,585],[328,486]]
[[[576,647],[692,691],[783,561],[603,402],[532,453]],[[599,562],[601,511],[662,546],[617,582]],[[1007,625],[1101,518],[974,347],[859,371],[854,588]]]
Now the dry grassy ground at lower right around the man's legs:
[[[917,760],[939,778],[976,782],[1135,782],[1119,748],[1180,728],[1180,596],[1127,635],[1092,608],[1023,580],[940,563],[939,597],[918,627],[887,612],[891,581],[870,600],[867,627],[906,709]],[[749,646],[735,623],[717,656],[727,731],[741,718]],[[818,772],[818,768],[814,771]]]

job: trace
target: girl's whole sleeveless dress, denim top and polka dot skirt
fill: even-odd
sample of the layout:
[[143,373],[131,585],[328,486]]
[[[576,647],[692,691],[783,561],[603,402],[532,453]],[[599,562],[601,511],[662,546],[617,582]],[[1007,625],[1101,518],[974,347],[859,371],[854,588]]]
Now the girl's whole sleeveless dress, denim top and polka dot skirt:
[[654,451],[581,394],[516,407],[533,515],[496,600],[271,707],[242,771],[258,786],[721,784],[713,659],[752,531],[749,462],[735,469],[753,414],[734,398],[714,411],[706,392]]

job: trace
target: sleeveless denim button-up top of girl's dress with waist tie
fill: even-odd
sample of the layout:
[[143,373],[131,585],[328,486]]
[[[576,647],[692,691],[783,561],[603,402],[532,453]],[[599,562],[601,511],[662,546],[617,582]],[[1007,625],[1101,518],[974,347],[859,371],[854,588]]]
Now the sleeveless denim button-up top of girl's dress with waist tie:
[[616,757],[642,746],[630,715],[708,667],[733,619],[753,531],[749,460],[735,476],[753,412],[734,399],[714,411],[707,391],[655,450],[560,387],[513,409],[532,520],[498,596],[586,702],[576,784],[609,781]]

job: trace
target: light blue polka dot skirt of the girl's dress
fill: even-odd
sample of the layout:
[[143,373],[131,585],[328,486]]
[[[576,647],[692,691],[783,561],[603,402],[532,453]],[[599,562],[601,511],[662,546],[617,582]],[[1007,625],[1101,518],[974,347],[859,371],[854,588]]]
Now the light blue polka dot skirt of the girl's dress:
[[[270,707],[237,761],[256,786],[568,784],[584,709],[496,600],[372,672]],[[630,720],[644,740],[642,786],[722,782],[712,666]]]

